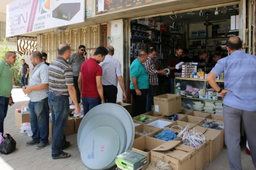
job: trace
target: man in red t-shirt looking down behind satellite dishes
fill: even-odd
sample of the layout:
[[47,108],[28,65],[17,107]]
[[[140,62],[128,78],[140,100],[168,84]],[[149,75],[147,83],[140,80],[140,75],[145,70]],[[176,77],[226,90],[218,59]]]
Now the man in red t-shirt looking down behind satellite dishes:
[[82,96],[83,115],[91,108],[104,103],[103,87],[101,84],[102,62],[108,53],[105,47],[97,47],[93,56],[85,60],[80,68],[78,87]]

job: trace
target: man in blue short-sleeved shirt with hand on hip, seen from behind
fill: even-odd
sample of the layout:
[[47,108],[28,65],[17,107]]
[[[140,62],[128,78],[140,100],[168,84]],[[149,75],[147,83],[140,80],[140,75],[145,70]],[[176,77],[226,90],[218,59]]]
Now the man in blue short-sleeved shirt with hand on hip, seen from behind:
[[[224,134],[231,170],[241,170],[240,122],[243,121],[251,158],[256,168],[256,57],[241,50],[238,37],[226,42],[229,56],[217,61],[207,76],[209,85],[223,98]],[[224,72],[224,88],[215,82]]]

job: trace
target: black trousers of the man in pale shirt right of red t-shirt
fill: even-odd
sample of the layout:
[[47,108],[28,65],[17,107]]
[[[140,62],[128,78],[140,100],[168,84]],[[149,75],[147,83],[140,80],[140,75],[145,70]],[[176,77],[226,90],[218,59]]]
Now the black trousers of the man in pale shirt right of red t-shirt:
[[116,103],[117,87],[114,85],[103,85],[105,103]]

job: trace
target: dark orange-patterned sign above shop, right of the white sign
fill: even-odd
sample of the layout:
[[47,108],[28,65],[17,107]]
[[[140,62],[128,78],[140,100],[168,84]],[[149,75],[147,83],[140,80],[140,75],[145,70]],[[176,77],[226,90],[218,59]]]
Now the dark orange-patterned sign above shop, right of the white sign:
[[96,15],[166,0],[96,0]]

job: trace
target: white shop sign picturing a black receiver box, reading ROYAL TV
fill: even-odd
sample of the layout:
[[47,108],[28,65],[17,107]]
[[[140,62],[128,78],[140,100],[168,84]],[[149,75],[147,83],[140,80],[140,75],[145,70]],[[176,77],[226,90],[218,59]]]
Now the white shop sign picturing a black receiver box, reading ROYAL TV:
[[84,0],[16,0],[6,5],[6,37],[84,21]]

